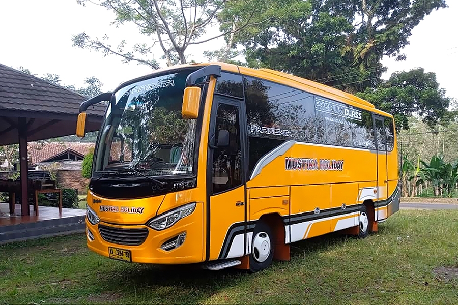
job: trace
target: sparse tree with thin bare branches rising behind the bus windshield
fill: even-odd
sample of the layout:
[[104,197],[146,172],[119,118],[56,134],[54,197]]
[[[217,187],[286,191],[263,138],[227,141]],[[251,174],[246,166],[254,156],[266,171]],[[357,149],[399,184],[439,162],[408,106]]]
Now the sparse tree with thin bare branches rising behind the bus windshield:
[[[105,56],[115,54],[121,56],[125,62],[133,60],[158,69],[157,60],[150,54],[156,44],[159,44],[163,53],[161,58],[165,59],[167,66],[176,63],[185,64],[186,49],[190,45],[202,44],[254,25],[250,20],[259,13],[257,3],[263,0],[235,1],[246,3],[246,14],[233,19],[230,28],[221,34],[208,37],[207,29],[217,22],[218,15],[229,2],[228,0],[99,0],[97,5],[115,13],[114,24],[133,23],[141,34],[148,37],[148,41],[136,44],[132,50],[126,51],[126,40],[113,47],[109,44],[107,35],[101,39],[93,39],[82,32],[73,36],[73,45],[101,51]],[[78,2],[84,5],[87,1],[78,0]]]

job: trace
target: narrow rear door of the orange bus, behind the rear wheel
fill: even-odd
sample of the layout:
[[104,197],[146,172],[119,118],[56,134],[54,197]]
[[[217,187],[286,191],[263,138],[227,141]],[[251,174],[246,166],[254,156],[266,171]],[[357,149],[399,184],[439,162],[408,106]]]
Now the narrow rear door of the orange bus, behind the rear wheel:
[[379,205],[384,205],[388,198],[388,175],[387,175],[387,160],[386,160],[386,135],[383,117],[374,115],[374,130],[376,136],[377,148],[377,204],[375,208],[376,219],[386,218],[379,211]]

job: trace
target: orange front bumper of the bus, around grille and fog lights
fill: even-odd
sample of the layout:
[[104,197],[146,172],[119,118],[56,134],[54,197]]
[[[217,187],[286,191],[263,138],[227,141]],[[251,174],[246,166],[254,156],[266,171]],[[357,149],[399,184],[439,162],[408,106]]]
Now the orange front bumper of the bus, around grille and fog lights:
[[[138,246],[122,245],[120,243],[109,242],[102,238],[99,225],[123,228],[138,229],[147,228],[148,236],[145,241]],[[94,237],[91,240],[87,235],[87,245],[91,251],[100,255],[108,256],[108,247],[115,247],[131,251],[132,262],[149,264],[190,264],[204,261],[204,230],[203,230],[203,206],[197,204],[194,212],[178,221],[172,227],[156,231],[146,225],[117,225],[100,222],[92,225],[86,219],[86,228],[89,229]],[[181,233],[186,233],[185,241],[176,249],[165,251],[161,246]]]

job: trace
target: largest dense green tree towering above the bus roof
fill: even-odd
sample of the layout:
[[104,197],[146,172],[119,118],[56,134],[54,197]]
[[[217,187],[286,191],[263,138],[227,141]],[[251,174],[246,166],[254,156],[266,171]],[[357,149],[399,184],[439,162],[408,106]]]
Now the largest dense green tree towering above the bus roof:
[[[282,1],[270,3],[274,7]],[[297,9],[287,11],[288,16],[278,22],[235,34],[234,43],[246,47],[248,65],[354,93],[380,82],[383,56],[405,59],[400,51],[409,44],[412,29],[446,4],[445,0],[297,0],[288,6]]]

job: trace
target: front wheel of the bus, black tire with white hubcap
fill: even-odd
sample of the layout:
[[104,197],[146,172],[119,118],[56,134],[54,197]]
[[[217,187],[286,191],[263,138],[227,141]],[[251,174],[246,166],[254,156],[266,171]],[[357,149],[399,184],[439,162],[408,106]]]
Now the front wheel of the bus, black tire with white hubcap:
[[266,223],[259,221],[254,227],[251,239],[251,272],[267,269],[272,264],[274,245],[272,230]]

